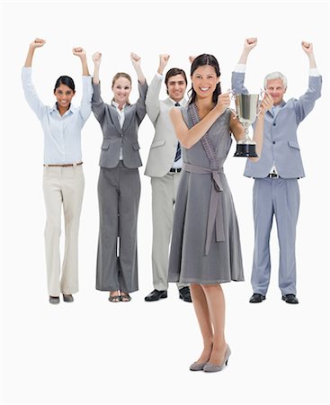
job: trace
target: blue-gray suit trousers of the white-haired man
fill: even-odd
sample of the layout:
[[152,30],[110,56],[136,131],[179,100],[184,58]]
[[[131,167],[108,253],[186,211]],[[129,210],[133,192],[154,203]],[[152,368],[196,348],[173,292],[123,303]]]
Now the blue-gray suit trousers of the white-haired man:
[[254,180],[254,263],[251,283],[254,293],[265,295],[271,277],[270,235],[275,215],[280,245],[281,293],[296,294],[296,226],[299,214],[297,179]]

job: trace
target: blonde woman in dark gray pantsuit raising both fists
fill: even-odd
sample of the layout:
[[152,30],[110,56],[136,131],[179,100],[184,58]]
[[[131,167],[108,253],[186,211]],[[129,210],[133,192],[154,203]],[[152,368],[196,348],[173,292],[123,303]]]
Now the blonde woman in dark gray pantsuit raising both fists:
[[141,58],[130,59],[138,76],[137,103],[129,103],[131,78],[117,73],[112,79],[111,104],[103,102],[100,89],[102,55],[93,55],[92,108],[103,130],[98,198],[100,232],[96,265],[96,289],[109,291],[110,302],[129,302],[138,290],[137,222],[140,179],[138,127],[146,115],[147,82]]

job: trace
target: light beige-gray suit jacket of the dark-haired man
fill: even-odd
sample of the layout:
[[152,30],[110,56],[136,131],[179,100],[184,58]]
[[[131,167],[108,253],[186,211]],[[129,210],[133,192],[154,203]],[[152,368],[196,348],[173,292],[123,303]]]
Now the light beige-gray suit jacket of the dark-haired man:
[[[150,146],[145,175],[163,177],[173,165],[178,144],[174,126],[169,116],[174,102],[170,98],[159,100],[162,77],[156,75],[148,89],[146,97],[147,115],[154,124],[155,136]],[[184,99],[182,105],[187,101]]]

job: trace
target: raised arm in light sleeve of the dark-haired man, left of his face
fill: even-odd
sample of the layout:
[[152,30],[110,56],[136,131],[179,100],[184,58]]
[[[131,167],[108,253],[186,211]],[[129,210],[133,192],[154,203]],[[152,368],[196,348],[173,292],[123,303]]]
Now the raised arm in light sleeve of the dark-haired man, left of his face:
[[157,69],[157,73],[151,80],[151,83],[147,88],[147,96],[146,96],[147,115],[154,125],[160,112],[159,93],[160,87],[163,83],[163,72],[169,58],[170,58],[169,55],[165,54],[159,55],[159,66]]

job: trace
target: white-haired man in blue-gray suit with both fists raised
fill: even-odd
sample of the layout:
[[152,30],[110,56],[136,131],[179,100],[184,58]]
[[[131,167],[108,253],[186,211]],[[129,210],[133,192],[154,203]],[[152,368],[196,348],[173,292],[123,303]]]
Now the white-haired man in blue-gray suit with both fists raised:
[[[256,38],[245,40],[245,46],[232,74],[232,89],[246,94],[244,85],[247,57],[257,44]],[[296,225],[299,214],[298,179],[304,177],[300,157],[297,128],[312,111],[321,96],[322,77],[317,70],[313,45],[301,43],[309,60],[308,90],[299,99],[287,103],[283,95],[287,79],[273,72],[264,79],[265,90],[272,95],[274,104],[266,112],[263,131],[263,153],[253,164],[246,162],[245,174],[254,177],[254,263],[251,282],[254,289],[250,302],[263,302],[271,275],[269,240],[272,217],[275,215],[280,245],[279,286],[282,300],[299,303],[296,297]]]

